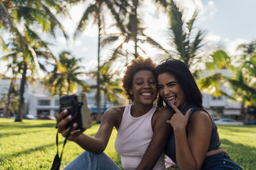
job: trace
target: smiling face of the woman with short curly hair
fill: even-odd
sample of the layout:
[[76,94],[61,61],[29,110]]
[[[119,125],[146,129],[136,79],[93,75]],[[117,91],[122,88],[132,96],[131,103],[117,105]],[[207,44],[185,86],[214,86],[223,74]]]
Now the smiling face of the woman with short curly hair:
[[134,97],[134,103],[151,105],[156,99],[157,86],[156,77],[151,71],[138,71],[132,80],[132,88],[129,93]]

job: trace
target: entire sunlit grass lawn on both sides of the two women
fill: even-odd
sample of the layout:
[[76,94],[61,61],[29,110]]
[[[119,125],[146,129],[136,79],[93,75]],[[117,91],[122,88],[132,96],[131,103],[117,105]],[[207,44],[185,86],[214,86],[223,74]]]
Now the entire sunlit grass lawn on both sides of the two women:
[[[4,169],[50,169],[56,154],[55,121],[0,119],[0,170]],[[85,133],[94,135],[99,125],[94,124]],[[256,167],[256,125],[231,126],[219,125],[222,147],[243,169]],[[59,149],[64,138],[59,134]],[[120,157],[114,149],[116,130],[111,134],[109,145],[105,150],[118,166]],[[65,167],[83,149],[72,142],[67,142],[61,162]]]

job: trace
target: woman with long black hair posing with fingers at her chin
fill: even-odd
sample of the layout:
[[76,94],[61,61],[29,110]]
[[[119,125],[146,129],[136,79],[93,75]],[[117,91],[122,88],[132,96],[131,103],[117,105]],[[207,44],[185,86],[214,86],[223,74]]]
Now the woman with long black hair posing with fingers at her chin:
[[158,106],[172,108],[171,133],[164,153],[182,169],[242,169],[220,146],[217,126],[202,106],[202,94],[184,62],[165,60],[156,67]]

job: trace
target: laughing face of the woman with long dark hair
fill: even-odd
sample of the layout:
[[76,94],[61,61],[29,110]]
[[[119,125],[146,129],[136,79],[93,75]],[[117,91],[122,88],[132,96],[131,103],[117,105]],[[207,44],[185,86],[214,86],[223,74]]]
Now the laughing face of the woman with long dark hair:
[[186,106],[186,97],[179,82],[169,73],[158,75],[158,90],[167,103],[175,104],[180,110]]

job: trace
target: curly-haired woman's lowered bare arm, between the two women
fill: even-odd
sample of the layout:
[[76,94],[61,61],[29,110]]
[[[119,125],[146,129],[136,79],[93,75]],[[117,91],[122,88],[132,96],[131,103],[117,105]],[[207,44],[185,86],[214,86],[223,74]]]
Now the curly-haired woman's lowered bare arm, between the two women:
[[171,126],[165,121],[171,118],[171,112],[168,109],[158,110],[156,113],[156,121],[153,123],[153,137],[151,143],[147,147],[138,169],[153,169],[158,161],[164,146],[167,143],[167,138],[171,130]]

